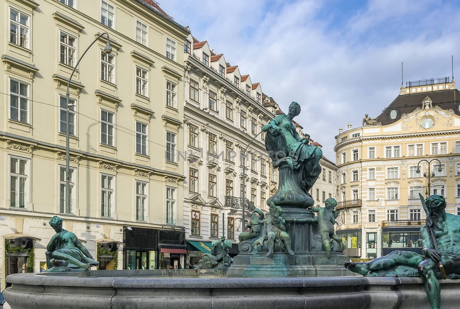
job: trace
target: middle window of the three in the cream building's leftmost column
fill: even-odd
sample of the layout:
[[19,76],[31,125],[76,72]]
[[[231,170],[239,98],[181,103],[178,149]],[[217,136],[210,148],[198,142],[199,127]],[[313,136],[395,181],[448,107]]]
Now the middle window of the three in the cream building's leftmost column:
[[29,123],[29,84],[13,79],[10,79],[10,119]]

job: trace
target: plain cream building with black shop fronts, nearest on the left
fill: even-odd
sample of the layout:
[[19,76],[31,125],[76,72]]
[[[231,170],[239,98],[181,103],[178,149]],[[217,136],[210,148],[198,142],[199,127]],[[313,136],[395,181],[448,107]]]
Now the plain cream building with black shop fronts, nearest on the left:
[[[58,215],[93,257],[109,249],[98,257],[105,268],[184,267],[178,154],[190,32],[151,0],[5,0],[0,13],[0,265],[8,256],[10,272],[44,268],[55,233],[47,222]],[[63,98],[103,32],[113,52],[97,41],[70,84],[66,209]]]

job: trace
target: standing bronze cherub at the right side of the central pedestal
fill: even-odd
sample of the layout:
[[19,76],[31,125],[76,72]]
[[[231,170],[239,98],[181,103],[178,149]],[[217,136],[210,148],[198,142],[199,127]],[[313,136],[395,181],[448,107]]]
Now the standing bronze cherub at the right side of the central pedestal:
[[[340,244],[339,251],[343,251],[342,239],[335,234],[334,224],[335,219],[339,216],[339,212],[334,210],[337,205],[337,201],[334,198],[328,198],[325,202],[326,207],[313,207],[311,211],[318,213],[318,227],[321,235],[322,245],[328,259],[331,258],[331,243],[336,240]],[[342,249],[342,250],[340,250]],[[337,251],[337,250],[336,250]]]

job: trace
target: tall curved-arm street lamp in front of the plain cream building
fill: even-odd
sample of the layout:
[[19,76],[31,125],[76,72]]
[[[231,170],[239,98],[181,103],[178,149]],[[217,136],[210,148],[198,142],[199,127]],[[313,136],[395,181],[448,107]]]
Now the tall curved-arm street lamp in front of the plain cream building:
[[85,52],[83,52],[81,54],[81,57],[78,59],[77,63],[75,64],[75,67],[74,67],[74,70],[72,70],[72,73],[70,74],[70,77],[69,77],[69,81],[67,82],[67,93],[66,93],[66,99],[67,99],[67,112],[66,112],[66,134],[65,134],[65,209],[66,211],[69,211],[70,210],[70,185],[69,185],[69,181],[70,181],[70,173],[69,173],[69,108],[70,106],[74,106],[73,104],[69,104],[69,87],[70,87],[70,81],[72,80],[72,76],[74,76],[74,73],[75,73],[75,70],[77,69],[77,66],[78,64],[80,63],[81,59],[83,58],[83,56],[85,56],[86,52],[88,51],[88,49],[90,47],[92,47],[92,45],[99,40],[100,37],[102,37],[103,35],[107,35],[107,42],[105,43],[105,47],[104,47],[104,52],[106,53],[111,53],[112,52],[112,47],[110,47],[110,42],[109,42],[109,34],[107,32],[104,32],[100,35],[98,35],[98,37],[96,39],[94,39],[94,41],[92,41],[92,43],[86,48]]

